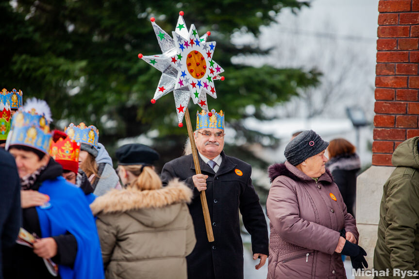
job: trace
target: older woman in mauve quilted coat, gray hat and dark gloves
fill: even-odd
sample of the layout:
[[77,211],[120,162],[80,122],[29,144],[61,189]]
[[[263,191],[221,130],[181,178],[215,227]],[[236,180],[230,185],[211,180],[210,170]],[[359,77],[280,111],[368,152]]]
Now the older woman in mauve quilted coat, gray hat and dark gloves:
[[368,267],[355,219],[325,168],[328,145],[303,131],[286,146],[285,164],[268,169],[268,279],[346,278],[341,254],[351,256],[354,268]]

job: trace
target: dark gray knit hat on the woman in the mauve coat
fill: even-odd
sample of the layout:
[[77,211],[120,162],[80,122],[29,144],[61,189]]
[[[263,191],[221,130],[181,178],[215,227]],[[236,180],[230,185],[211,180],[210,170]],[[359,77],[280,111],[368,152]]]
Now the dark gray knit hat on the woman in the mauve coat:
[[324,141],[313,130],[302,131],[285,147],[284,155],[286,160],[292,165],[298,165],[305,159],[314,156],[329,146],[329,142]]

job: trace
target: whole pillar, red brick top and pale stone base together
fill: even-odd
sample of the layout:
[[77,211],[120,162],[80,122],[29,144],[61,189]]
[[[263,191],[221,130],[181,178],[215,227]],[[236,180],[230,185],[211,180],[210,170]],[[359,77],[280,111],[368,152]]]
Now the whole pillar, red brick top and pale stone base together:
[[359,245],[368,253],[368,269],[373,267],[383,185],[394,170],[392,153],[419,135],[419,0],[380,0],[378,11],[372,166],[358,176],[356,191]]

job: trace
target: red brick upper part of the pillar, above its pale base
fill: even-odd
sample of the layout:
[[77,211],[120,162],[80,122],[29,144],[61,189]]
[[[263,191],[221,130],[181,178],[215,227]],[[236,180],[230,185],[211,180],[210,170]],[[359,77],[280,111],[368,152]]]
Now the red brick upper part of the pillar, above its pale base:
[[405,139],[419,135],[419,0],[378,3],[372,164],[391,165]]

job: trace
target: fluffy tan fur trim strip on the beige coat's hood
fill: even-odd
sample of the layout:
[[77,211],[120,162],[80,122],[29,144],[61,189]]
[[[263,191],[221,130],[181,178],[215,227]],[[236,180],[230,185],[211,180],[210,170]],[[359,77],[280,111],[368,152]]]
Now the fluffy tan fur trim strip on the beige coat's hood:
[[170,204],[186,202],[192,199],[192,190],[184,182],[174,179],[167,187],[158,190],[138,191],[134,189],[113,189],[97,197],[90,205],[93,214],[100,212],[127,212],[144,208],[164,207]]

